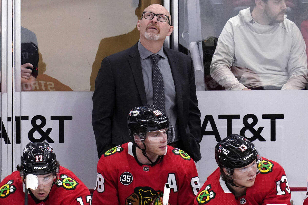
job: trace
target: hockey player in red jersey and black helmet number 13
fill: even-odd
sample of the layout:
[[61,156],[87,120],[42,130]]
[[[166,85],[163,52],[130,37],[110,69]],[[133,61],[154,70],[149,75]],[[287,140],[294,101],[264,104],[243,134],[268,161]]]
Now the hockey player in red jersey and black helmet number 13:
[[219,166],[205,181],[194,204],[290,204],[286,173],[272,160],[261,158],[255,146],[231,134],[215,147]]

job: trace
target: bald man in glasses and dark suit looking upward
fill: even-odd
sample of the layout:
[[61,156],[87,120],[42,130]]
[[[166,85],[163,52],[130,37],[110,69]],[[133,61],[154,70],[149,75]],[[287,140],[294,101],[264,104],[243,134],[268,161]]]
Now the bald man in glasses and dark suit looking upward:
[[163,6],[152,4],[145,8],[137,29],[139,41],[105,57],[95,80],[92,125],[98,156],[130,140],[126,120],[131,108],[155,104],[151,56],[159,55],[164,104],[157,105],[175,128],[176,137],[170,145],[184,150],[197,162],[201,159],[201,115],[193,62],[187,55],[163,46],[173,31],[171,15]]

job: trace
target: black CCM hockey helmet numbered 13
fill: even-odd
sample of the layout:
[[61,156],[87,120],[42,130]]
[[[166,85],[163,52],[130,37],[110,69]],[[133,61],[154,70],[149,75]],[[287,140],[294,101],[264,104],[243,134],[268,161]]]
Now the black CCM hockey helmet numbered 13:
[[256,147],[237,134],[231,134],[215,147],[215,160],[220,168],[242,168],[258,160],[258,157]]

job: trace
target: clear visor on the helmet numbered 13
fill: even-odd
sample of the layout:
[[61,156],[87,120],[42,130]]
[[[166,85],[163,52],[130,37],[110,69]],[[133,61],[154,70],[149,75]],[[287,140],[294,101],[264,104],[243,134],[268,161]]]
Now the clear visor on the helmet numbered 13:
[[230,176],[233,180],[241,181],[241,180],[249,180],[255,178],[256,175],[260,173],[261,168],[262,168],[262,158],[258,152],[257,159],[254,160],[252,163],[248,164],[247,166],[234,169],[226,168],[226,171],[233,172],[233,174],[231,174]]

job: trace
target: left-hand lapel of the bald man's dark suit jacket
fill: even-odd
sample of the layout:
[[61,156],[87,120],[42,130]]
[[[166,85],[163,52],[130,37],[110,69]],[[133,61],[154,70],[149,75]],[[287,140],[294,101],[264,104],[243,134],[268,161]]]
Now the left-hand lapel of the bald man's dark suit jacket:
[[135,80],[142,104],[147,104],[147,97],[145,95],[140,55],[139,55],[137,44],[135,44],[131,48],[131,53],[129,55],[132,57],[131,59],[128,60],[129,65],[131,66],[134,80]]

